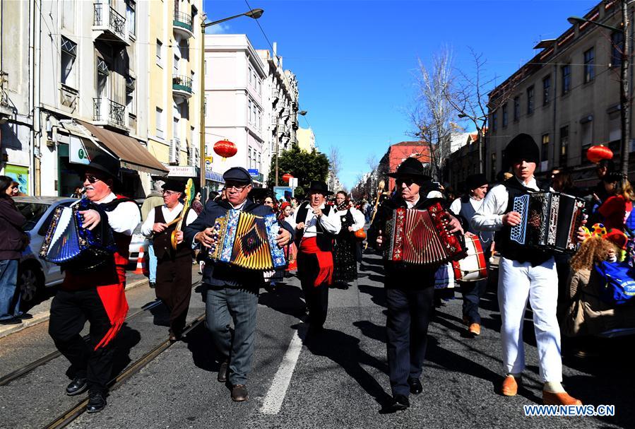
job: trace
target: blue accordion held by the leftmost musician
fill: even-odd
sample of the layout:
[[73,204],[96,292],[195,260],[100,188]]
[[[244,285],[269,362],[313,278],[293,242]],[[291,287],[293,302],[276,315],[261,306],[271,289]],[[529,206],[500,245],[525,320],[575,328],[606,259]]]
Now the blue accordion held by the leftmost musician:
[[93,230],[82,228],[79,212],[96,208],[88,199],[55,208],[40,247],[40,258],[73,270],[94,269],[112,261],[117,245],[106,215],[102,212],[102,221]]

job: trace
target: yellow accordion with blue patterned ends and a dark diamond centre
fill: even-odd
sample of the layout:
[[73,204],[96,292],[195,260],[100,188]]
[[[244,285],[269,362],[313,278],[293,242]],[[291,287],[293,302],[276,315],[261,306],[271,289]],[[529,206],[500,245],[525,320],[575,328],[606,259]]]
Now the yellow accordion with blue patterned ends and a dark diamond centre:
[[285,250],[278,247],[275,214],[256,216],[230,210],[213,226],[214,244],[209,257],[244,269],[267,271],[286,265]]

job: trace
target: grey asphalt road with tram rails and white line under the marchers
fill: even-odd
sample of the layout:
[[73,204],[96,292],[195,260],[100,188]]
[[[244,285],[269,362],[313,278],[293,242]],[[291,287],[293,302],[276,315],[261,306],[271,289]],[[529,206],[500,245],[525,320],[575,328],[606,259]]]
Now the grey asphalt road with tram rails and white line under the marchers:
[[[482,301],[483,330],[476,339],[465,336],[460,299],[449,300],[437,309],[429,330],[424,391],[410,396],[407,411],[385,413],[390,387],[383,269],[374,254],[364,255],[364,268],[357,284],[348,290],[331,290],[326,333],[319,341],[302,340],[306,326],[299,319],[303,302],[297,278],[287,279],[274,293],[261,293],[249,401],[232,402],[229,388],[216,381],[218,363],[208,331],[201,324],[185,341],[175,343],[111,392],[105,411],[83,414],[69,427],[634,427],[632,339],[596,342],[598,357],[564,360],[564,385],[569,392],[585,404],[615,405],[615,417],[524,416],[523,405],[540,404],[542,387],[530,311],[526,317],[523,387],[515,397],[497,394],[502,377],[500,317],[494,291]],[[153,291],[143,289],[148,300],[152,298]],[[160,326],[165,314],[153,312],[133,319],[124,329],[119,341],[119,369],[165,339],[167,328]],[[190,319],[202,312],[201,297],[194,294]],[[40,341],[49,340],[42,337]],[[4,353],[8,344],[0,343],[3,362],[12,354]],[[37,428],[64,411],[72,402],[63,394],[67,367],[66,361],[58,358],[0,387],[0,427]],[[6,373],[4,368],[1,372]]]

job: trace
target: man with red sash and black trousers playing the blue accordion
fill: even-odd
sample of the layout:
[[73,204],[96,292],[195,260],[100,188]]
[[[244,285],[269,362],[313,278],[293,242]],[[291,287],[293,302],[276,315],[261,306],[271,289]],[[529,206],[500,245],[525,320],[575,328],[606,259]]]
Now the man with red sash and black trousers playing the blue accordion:
[[[81,228],[111,228],[117,250],[96,269],[65,270],[64,282],[51,303],[49,334],[60,353],[71,361],[73,381],[66,387],[66,394],[81,394],[88,389],[86,411],[96,413],[106,406],[114,353],[111,341],[128,312],[124,294],[128,247],[141,213],[133,200],[112,192],[119,160],[97,155],[79,172],[84,195],[95,204],[95,208],[79,212]],[[80,335],[86,320],[90,322],[88,343]]]

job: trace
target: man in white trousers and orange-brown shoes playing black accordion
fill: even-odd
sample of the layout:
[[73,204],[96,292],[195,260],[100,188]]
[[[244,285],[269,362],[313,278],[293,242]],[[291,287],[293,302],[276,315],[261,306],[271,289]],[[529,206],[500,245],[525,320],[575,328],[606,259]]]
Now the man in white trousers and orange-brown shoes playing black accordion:
[[498,300],[501,311],[501,340],[505,378],[504,396],[515,396],[525,369],[523,319],[527,301],[533,310],[533,323],[540,358],[542,402],[547,405],[581,405],[562,387],[560,328],[556,317],[558,276],[551,252],[528,249],[510,238],[511,227],[521,223],[514,211],[514,198],[548,191],[533,173],[540,162],[538,145],[528,134],[518,134],[505,148],[514,177],[492,188],[472,217],[475,230],[496,231],[494,241],[502,258],[499,265]]

